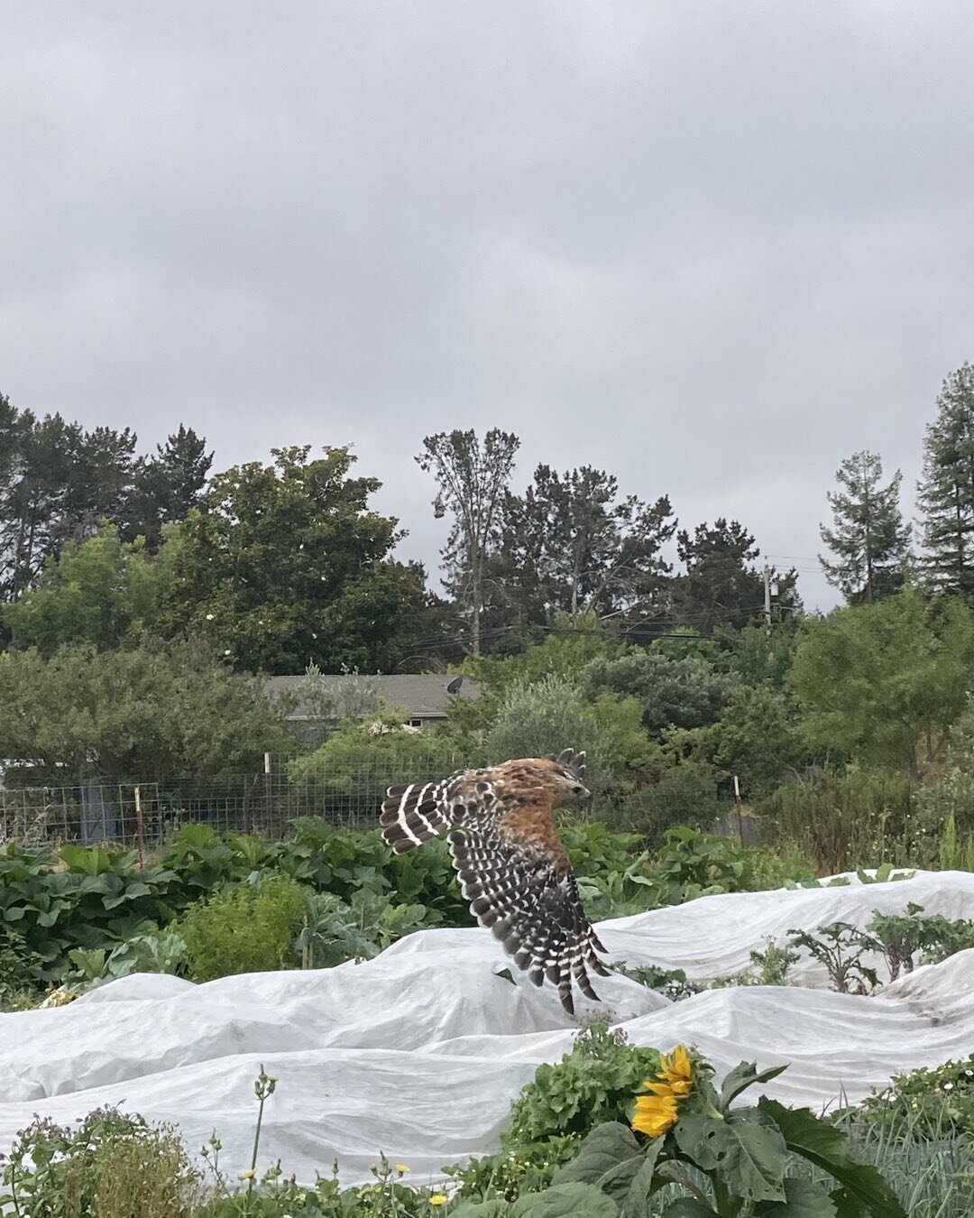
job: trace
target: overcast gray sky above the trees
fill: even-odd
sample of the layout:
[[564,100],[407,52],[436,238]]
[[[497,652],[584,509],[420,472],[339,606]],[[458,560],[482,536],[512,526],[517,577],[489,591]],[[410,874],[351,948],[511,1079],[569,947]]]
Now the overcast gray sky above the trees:
[[46,0],[0,16],[0,391],[215,468],[521,436],[794,555],[913,510],[974,359],[970,0]]

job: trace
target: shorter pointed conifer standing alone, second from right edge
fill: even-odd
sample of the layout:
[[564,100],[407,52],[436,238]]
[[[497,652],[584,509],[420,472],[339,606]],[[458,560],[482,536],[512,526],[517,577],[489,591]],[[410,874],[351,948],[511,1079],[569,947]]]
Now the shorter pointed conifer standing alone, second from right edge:
[[825,495],[833,526],[818,526],[834,555],[818,557],[825,579],[850,604],[892,596],[902,588],[909,561],[911,527],[900,510],[902,474],[897,469],[883,486],[879,453],[863,451],[846,458],[835,479],[839,490]]

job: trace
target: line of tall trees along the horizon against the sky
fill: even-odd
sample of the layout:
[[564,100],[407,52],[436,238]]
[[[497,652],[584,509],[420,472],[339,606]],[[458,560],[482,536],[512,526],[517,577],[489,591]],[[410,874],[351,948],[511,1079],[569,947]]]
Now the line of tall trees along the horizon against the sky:
[[[802,611],[797,576],[760,564],[755,536],[718,518],[681,527],[667,495],[643,499],[592,465],[538,464],[511,488],[520,441],[499,429],[425,437],[416,460],[449,521],[442,592],[405,536],[370,507],[380,484],[347,447],[274,449],[212,474],[179,425],[151,454],[130,429],[86,430],[0,397],[0,602],[5,642],[52,654],[134,635],[192,638],[247,672],[441,667],[516,654],[586,619],[622,641],[702,637]],[[919,546],[899,471],[875,452],[843,462],[821,526],[825,577],[850,604],[908,582],[974,591],[974,368],[945,380],[924,438]],[[673,561],[673,549],[676,560]],[[678,565],[677,565],[678,564]],[[767,592],[771,598],[769,614]]]

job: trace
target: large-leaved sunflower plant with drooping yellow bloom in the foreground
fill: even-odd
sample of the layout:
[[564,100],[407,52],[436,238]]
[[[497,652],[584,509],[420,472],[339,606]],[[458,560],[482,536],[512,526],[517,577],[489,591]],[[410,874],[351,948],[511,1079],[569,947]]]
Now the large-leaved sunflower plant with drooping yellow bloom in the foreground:
[[[741,1093],[783,1068],[759,1072],[741,1062],[718,1094],[707,1065],[694,1058],[689,1095],[679,1102],[670,1129],[643,1138],[621,1122],[600,1124],[555,1173],[554,1183],[598,1188],[625,1218],[657,1212],[653,1199],[673,1181],[681,1195],[662,1209],[671,1218],[741,1213],[906,1218],[879,1173],[850,1157],[847,1136],[810,1108],[785,1108],[763,1096],[754,1107],[740,1106]],[[823,1175],[830,1177],[829,1184]]]

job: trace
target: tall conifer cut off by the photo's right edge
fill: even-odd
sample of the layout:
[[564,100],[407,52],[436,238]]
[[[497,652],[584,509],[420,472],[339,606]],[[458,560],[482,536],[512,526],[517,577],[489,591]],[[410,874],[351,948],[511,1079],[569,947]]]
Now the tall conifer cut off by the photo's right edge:
[[974,367],[952,371],[927,428],[918,501],[931,588],[974,596]]

